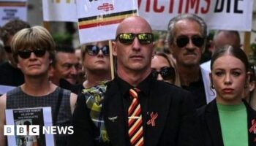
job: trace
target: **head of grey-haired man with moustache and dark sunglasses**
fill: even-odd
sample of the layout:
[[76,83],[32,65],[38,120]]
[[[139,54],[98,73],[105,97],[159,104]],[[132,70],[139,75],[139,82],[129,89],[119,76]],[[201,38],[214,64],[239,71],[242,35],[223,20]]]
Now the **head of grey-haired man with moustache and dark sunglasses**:
[[193,14],[178,15],[168,24],[167,42],[178,66],[199,66],[206,46],[207,26]]

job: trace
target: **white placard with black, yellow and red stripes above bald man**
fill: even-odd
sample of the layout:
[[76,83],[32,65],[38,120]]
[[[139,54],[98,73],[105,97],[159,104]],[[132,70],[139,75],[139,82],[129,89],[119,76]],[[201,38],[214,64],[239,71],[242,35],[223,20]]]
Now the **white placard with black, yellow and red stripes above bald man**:
[[138,15],[138,1],[77,1],[80,43],[115,39],[118,23]]

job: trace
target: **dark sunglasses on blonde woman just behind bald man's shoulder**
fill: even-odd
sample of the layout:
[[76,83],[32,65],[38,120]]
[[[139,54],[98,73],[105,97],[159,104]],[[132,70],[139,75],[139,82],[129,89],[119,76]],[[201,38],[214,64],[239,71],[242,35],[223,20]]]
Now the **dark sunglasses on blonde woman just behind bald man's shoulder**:
[[157,79],[158,74],[161,74],[162,78],[164,80],[174,80],[175,78],[175,70],[173,67],[162,67],[159,72],[156,71],[156,69],[152,69],[152,75],[154,78]]

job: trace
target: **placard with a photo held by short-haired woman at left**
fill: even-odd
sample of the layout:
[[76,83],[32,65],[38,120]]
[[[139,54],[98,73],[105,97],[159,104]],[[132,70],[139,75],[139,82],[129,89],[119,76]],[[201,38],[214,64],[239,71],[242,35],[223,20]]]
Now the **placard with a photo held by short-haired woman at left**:
[[37,145],[54,145],[53,134],[43,134],[43,127],[52,126],[51,108],[37,107],[6,110],[4,134],[8,145],[22,146],[28,142]]

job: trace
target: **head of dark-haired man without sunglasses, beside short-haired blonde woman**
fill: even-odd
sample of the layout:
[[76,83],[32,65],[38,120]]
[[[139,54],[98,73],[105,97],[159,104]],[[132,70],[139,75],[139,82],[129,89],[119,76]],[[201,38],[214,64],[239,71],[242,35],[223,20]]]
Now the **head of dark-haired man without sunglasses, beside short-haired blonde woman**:
[[75,50],[68,45],[59,45],[56,47],[56,55],[53,59],[50,80],[59,85],[61,78],[71,84],[75,84],[78,78],[79,62],[75,56]]

